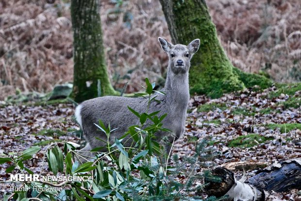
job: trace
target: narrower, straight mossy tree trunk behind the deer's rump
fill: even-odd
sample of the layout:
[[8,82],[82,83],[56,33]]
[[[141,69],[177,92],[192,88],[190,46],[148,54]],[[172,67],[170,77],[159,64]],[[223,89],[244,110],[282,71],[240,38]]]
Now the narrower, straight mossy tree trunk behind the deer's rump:
[[99,0],[71,0],[74,37],[74,79],[72,97],[76,102],[99,95],[116,95],[105,64]]

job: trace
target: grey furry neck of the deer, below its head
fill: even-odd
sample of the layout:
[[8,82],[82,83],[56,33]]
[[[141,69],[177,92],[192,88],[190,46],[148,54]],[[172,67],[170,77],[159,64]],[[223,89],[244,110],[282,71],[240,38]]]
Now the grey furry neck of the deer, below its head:
[[[171,71],[170,68],[168,68],[168,71]],[[175,109],[187,109],[189,101],[188,73],[174,74],[167,72],[164,90],[168,102],[175,105]]]

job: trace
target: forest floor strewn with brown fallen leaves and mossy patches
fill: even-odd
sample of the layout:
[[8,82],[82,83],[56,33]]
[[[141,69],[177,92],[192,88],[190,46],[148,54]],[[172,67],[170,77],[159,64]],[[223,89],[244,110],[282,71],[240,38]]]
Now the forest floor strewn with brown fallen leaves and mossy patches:
[[[191,96],[186,132],[174,144],[180,159],[194,153],[197,142],[219,152],[212,165],[248,162],[247,177],[273,162],[301,157],[301,84],[275,85],[264,91],[246,89],[218,99]],[[0,157],[17,156],[30,146],[41,146],[26,163],[34,173],[47,174],[43,151],[51,143],[80,144],[80,128],[74,106],[67,103],[22,103],[0,105]],[[60,144],[58,144],[60,146]],[[62,145],[63,146],[63,145]],[[45,164],[44,164],[45,163]],[[257,164],[257,165],[256,165]],[[0,165],[0,178],[9,179],[8,164]],[[234,169],[242,176],[242,168]],[[0,192],[6,186],[0,185]],[[300,201],[301,191],[271,192],[270,201]]]

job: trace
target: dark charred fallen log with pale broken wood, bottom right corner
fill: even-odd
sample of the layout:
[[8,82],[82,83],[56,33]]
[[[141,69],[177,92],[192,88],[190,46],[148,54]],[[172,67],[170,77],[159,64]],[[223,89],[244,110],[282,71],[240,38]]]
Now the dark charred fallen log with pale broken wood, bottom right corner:
[[211,170],[211,174],[221,178],[221,182],[204,179],[204,191],[209,196],[228,195],[228,201],[264,201],[267,191],[301,189],[301,158],[272,164],[247,181],[236,180],[234,173],[224,167]]

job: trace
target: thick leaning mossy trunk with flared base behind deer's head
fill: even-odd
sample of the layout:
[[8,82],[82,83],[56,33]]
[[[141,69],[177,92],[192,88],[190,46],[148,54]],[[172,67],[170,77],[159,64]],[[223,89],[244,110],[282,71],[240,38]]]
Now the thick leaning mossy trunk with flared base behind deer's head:
[[188,44],[200,38],[198,53],[191,61],[190,92],[219,97],[225,92],[271,84],[267,78],[235,68],[217,38],[205,0],[160,0],[173,43]]

